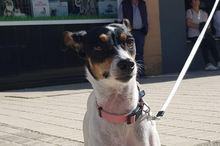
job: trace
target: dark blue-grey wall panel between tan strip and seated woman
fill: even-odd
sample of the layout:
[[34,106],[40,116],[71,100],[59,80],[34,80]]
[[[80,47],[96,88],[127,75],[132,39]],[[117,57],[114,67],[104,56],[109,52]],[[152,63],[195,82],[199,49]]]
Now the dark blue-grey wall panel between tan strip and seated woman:
[[187,56],[185,2],[159,0],[162,73],[180,72]]

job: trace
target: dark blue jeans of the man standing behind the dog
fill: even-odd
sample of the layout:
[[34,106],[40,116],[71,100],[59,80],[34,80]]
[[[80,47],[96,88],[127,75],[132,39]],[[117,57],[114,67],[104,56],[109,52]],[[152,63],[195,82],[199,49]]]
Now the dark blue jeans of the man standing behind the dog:
[[136,62],[140,65],[139,75],[142,76],[145,74],[144,67],[144,43],[145,43],[145,34],[143,29],[132,30],[133,37],[135,39],[136,46]]

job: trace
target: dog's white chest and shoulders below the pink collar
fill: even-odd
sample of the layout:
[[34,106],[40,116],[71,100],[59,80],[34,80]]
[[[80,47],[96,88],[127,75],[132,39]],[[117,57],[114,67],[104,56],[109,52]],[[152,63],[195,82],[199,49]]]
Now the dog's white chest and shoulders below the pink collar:
[[84,119],[85,146],[158,146],[159,143],[150,144],[159,141],[154,126],[144,115],[129,125],[100,118],[95,107],[95,94],[92,93]]

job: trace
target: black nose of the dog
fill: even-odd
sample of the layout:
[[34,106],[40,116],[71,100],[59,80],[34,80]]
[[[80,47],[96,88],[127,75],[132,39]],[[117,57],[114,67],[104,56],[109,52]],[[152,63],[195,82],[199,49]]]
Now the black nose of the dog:
[[134,61],[131,59],[123,59],[118,62],[118,67],[123,72],[132,72],[134,69]]

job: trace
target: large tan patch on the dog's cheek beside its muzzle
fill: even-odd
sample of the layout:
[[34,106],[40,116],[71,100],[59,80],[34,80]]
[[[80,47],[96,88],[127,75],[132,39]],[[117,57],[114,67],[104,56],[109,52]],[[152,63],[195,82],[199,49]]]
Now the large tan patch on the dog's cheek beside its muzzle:
[[108,78],[113,58],[107,58],[102,63],[92,63],[88,58],[90,71],[98,80]]

